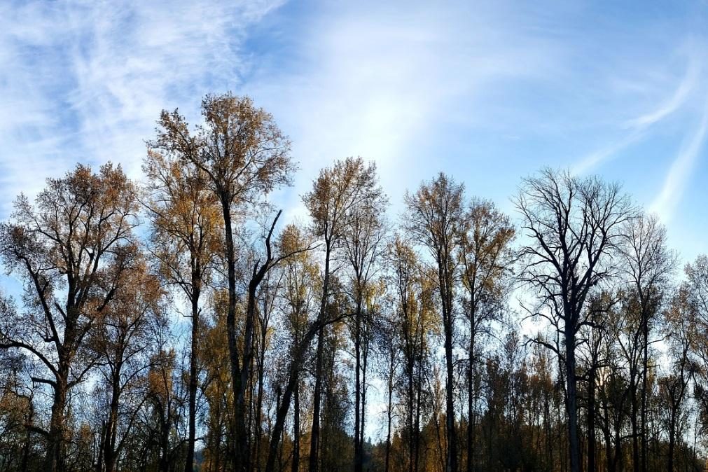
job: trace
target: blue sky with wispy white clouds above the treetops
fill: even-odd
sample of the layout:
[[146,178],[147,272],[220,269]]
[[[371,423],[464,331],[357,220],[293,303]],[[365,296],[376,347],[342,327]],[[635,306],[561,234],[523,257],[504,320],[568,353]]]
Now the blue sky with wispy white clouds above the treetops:
[[375,161],[396,220],[444,171],[513,214],[543,166],[624,185],[708,252],[708,2],[0,2],[0,219],[77,162],[140,178],[162,109],[249,95],[292,139],[286,219]]

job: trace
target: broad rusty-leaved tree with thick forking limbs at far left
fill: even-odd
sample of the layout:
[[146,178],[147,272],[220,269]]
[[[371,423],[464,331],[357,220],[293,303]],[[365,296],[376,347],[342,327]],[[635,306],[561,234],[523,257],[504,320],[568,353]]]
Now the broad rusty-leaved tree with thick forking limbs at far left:
[[25,283],[26,310],[3,319],[0,347],[40,362],[45,372],[33,381],[52,389],[47,471],[63,467],[67,398],[96,362],[86,341],[135,252],[136,212],[135,188],[120,166],[93,173],[79,165],[48,179],[35,206],[20,195],[0,226],[0,254]]

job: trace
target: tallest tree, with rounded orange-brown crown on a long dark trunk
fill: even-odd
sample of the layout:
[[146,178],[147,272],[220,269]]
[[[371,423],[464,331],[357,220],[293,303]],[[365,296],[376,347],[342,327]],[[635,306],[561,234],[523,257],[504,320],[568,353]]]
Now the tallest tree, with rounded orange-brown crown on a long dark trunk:
[[[238,340],[253,339],[256,323],[253,320],[255,312],[249,311],[243,333],[237,332],[239,294],[236,288],[234,229],[240,215],[263,200],[271,190],[290,183],[295,166],[290,158],[290,141],[275,124],[273,116],[262,108],[256,108],[250,98],[231,93],[208,95],[202,100],[202,117],[204,125],[190,134],[184,117],[176,110],[173,113],[163,111],[154,146],[174,153],[181,161],[192,163],[203,172],[222,210],[223,252],[229,293],[227,330],[235,398],[237,444],[234,462],[237,471],[248,471],[247,382],[243,379],[248,378],[251,364],[249,359],[241,357]],[[254,273],[258,270],[256,267]],[[255,304],[255,300],[249,303]],[[244,346],[248,347],[249,343],[244,343]]]

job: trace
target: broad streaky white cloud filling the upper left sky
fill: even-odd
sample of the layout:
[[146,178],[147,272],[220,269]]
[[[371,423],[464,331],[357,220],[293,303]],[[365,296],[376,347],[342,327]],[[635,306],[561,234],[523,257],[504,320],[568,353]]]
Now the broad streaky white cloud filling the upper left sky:
[[44,2],[0,6],[0,199],[77,161],[137,174],[162,108],[194,115],[250,67],[250,25],[280,1]]

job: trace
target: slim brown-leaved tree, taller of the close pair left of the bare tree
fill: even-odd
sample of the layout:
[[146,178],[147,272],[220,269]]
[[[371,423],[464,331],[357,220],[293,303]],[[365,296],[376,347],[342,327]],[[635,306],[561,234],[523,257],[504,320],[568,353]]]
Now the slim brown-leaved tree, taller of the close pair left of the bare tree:
[[452,361],[455,313],[455,251],[457,234],[463,219],[464,185],[440,173],[430,183],[422,183],[415,195],[406,194],[405,226],[411,237],[428,249],[437,269],[438,292],[445,333],[445,424],[447,454],[445,470],[457,472],[457,437],[455,435],[455,367]]

